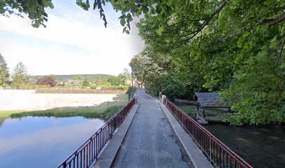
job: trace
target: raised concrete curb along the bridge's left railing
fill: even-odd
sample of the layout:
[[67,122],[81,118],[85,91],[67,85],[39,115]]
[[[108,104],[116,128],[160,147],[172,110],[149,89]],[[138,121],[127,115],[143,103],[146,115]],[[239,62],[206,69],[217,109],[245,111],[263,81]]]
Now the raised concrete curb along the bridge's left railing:
[[119,152],[119,148],[121,147],[124,138],[126,137],[126,132],[128,132],[131,122],[133,121],[133,118],[136,114],[136,111],[138,111],[138,106],[139,104],[135,104],[133,106],[133,109],[131,109],[128,116],[126,116],[126,119],[124,120],[122,125],[119,126],[117,132],[115,132],[112,139],[110,139],[108,145],[105,147],[103,153],[100,155],[100,157],[92,168],[112,167],[112,163],[114,162],[116,155]]

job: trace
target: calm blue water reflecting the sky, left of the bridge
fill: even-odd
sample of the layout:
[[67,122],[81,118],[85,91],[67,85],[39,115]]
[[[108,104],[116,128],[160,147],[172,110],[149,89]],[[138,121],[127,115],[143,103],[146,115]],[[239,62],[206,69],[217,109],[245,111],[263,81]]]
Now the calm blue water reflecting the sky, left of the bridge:
[[82,117],[0,120],[0,167],[57,167],[103,124]]

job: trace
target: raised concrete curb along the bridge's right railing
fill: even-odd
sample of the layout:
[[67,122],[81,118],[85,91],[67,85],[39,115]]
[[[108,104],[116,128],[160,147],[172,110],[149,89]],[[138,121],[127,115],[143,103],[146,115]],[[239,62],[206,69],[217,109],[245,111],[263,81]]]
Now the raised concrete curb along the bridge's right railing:
[[177,134],[177,137],[180,139],[181,144],[183,145],[185,151],[189,155],[189,158],[193,162],[194,167],[213,167],[209,160],[205,157],[203,152],[198,148],[193,139],[189,137],[189,134],[185,132],[180,123],[176,120],[173,114],[167,109],[167,107],[162,104],[158,99],[157,102],[161,105],[161,109],[166,114],[166,117],[169,120],[170,125],[173,127],[174,132]]

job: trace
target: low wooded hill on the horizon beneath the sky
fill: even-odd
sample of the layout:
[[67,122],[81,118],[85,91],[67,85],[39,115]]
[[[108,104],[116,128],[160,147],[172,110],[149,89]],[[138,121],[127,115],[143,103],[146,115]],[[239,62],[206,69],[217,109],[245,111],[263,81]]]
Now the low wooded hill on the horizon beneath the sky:
[[[112,75],[108,75],[108,74],[75,74],[75,75],[54,75],[55,78],[57,78],[57,80],[63,80],[66,81],[68,79],[73,79],[77,76],[82,76],[83,78],[87,78],[89,80],[94,79],[94,77],[98,76],[101,79],[105,79],[105,78],[109,78]],[[37,78],[43,78],[45,76],[29,76],[29,78],[31,79],[37,79]]]

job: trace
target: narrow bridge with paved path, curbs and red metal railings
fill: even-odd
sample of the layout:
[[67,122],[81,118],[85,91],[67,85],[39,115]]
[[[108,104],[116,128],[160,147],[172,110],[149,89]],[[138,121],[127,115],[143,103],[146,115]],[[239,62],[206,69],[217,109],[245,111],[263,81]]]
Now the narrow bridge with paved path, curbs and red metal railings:
[[59,165],[65,167],[251,167],[166,96],[135,97]]

